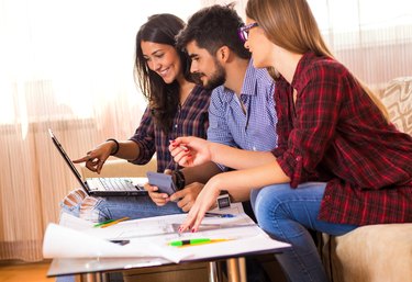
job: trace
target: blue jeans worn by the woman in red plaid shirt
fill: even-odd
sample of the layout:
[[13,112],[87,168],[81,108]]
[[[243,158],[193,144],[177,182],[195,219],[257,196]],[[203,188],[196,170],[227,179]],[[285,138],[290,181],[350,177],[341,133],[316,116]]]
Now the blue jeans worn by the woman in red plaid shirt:
[[308,182],[292,189],[285,183],[250,192],[252,206],[260,228],[272,238],[292,245],[277,255],[289,281],[329,281],[308,229],[337,236],[357,227],[318,219],[325,187],[323,182]]

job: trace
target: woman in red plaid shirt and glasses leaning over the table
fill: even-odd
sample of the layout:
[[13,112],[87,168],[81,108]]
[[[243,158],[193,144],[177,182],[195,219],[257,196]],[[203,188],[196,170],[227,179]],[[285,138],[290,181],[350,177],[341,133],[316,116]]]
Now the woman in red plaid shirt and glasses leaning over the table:
[[308,229],[343,235],[411,223],[412,138],[333,57],[305,0],[249,0],[246,15],[240,35],[255,67],[271,67],[276,80],[279,147],[256,153],[176,139],[169,148],[180,165],[237,169],[208,182],[181,230],[198,229],[221,190],[254,187],[260,227],[292,245],[277,257],[289,281],[327,281]]

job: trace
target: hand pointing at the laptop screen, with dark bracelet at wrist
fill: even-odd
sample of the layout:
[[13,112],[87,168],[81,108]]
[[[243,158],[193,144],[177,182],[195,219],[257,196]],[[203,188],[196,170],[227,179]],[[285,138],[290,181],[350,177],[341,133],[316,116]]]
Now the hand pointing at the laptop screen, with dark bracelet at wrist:
[[81,163],[86,161],[86,167],[88,169],[100,173],[105,160],[114,149],[114,146],[115,144],[113,142],[104,142],[94,149],[89,150],[85,157],[73,160],[73,162]]

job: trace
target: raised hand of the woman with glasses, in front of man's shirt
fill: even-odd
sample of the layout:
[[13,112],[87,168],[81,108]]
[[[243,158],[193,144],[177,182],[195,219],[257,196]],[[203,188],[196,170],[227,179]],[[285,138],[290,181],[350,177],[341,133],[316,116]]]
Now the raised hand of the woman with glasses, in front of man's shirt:
[[198,137],[179,137],[170,142],[174,160],[182,167],[193,167],[210,161],[210,142]]

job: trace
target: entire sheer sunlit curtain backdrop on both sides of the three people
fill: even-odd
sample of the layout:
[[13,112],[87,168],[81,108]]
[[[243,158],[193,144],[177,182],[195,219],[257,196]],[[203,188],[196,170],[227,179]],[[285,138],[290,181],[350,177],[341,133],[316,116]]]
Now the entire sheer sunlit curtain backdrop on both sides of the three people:
[[[78,185],[47,128],[71,158],[127,138],[146,104],[133,80],[140,25],[229,2],[0,0],[0,260],[41,260],[45,226]],[[244,16],[246,1],[236,2]],[[336,57],[365,82],[412,75],[410,0],[309,2]]]

